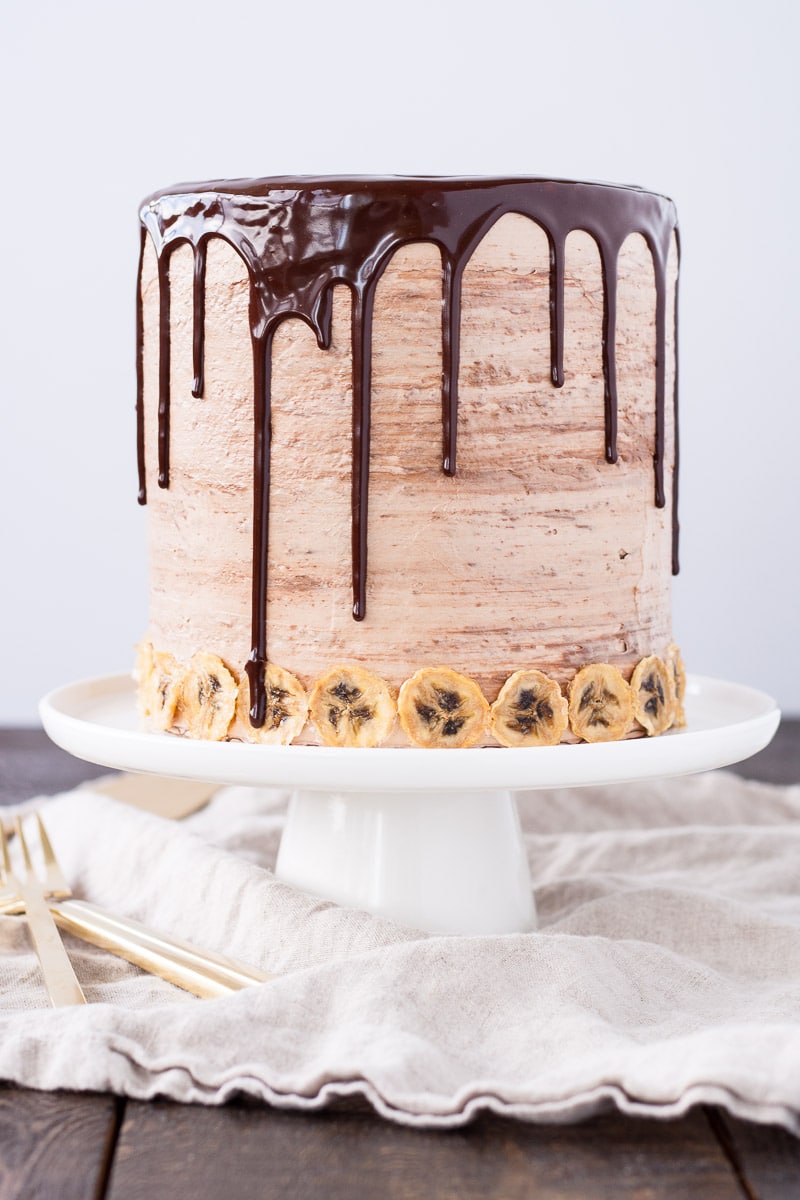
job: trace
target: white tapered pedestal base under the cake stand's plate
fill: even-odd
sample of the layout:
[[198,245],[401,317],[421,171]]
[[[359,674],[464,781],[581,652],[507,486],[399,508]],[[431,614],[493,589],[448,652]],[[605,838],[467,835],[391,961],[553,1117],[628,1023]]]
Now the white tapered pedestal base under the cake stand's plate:
[[297,791],[275,874],[431,932],[536,925],[517,805],[505,791]]

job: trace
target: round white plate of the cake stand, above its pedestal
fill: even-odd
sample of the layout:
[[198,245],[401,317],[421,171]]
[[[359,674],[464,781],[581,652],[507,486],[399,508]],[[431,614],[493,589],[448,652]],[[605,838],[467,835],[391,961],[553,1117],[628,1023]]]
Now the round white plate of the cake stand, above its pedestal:
[[687,727],[657,738],[531,749],[373,750],[199,742],[138,730],[130,673],[66,684],[40,703],[48,736],[78,758],[172,778],[303,791],[531,791],[694,774],[764,749],[781,713],[766,692],[688,677]]

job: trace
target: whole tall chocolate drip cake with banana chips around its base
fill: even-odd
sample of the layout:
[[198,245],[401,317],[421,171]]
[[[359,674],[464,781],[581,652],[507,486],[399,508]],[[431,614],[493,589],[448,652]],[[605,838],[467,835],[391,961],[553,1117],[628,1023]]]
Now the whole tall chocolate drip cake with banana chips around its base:
[[682,720],[675,210],[543,179],[140,210],[150,728],[542,745]]

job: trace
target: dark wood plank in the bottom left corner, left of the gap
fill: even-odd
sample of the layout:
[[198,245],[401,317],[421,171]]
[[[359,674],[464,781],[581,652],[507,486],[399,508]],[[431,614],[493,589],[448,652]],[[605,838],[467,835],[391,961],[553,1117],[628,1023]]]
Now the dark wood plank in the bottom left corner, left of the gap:
[[113,1096],[0,1085],[0,1198],[102,1196],[120,1114]]

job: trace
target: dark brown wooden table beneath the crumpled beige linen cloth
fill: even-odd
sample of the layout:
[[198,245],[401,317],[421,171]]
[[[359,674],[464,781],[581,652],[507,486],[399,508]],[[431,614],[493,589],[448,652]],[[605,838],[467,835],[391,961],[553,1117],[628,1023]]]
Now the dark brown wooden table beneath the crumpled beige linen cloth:
[[[742,763],[800,782],[800,720]],[[36,730],[0,730],[0,803],[101,774]],[[470,1200],[800,1198],[800,1141],[696,1109],[680,1121],[606,1116],[571,1127],[482,1117],[403,1129],[347,1103],[314,1116],[248,1103],[219,1109],[0,1085],[0,1200],[234,1200],[257,1196]]]

